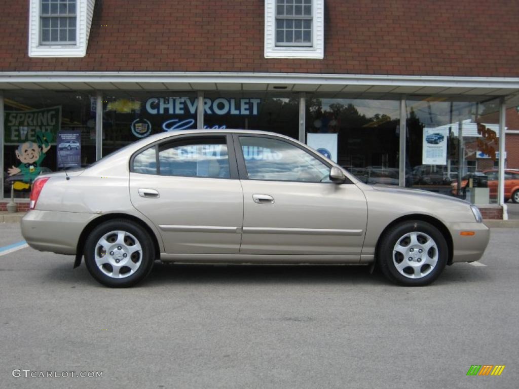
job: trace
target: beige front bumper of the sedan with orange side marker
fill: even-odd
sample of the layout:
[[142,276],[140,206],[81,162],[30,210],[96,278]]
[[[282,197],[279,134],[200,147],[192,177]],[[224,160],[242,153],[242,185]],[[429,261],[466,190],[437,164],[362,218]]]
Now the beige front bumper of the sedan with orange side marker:
[[[474,262],[485,252],[490,239],[490,230],[483,223],[446,223],[452,234],[453,262]],[[463,231],[473,231],[474,235],[461,235]]]

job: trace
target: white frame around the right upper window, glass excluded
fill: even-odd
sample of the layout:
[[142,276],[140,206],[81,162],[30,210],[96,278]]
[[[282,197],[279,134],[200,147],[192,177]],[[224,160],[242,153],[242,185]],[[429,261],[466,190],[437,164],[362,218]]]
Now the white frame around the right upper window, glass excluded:
[[312,0],[312,46],[276,46],[276,0],[265,0],[265,58],[324,58],[324,0]]

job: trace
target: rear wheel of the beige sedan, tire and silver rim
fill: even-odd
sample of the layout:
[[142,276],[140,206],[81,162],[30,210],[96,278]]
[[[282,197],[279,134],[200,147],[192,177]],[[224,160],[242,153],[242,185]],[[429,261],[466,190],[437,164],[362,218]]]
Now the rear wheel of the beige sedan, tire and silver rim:
[[[110,246],[100,243],[103,237]],[[140,245],[140,249],[136,245]],[[87,269],[95,280],[110,287],[128,287],[141,282],[152,270],[155,246],[148,232],[138,224],[114,219],[92,230],[85,243],[84,255]]]

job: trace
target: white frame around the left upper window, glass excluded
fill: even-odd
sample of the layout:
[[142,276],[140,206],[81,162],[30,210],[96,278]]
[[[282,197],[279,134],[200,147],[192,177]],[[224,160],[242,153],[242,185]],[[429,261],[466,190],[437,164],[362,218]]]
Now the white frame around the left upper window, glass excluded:
[[41,1],[29,3],[29,57],[85,57],[95,0],[76,1],[75,44],[41,44]]

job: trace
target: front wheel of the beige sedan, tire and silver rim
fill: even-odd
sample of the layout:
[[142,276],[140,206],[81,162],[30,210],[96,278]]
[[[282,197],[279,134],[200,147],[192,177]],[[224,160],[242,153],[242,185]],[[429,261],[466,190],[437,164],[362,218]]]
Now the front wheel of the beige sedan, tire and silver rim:
[[[416,244],[412,244],[412,237]],[[407,242],[409,243],[406,245]],[[404,253],[395,250],[397,243],[400,243]],[[422,250],[421,254],[418,249]],[[405,286],[430,284],[445,268],[447,258],[447,242],[442,233],[421,220],[408,220],[391,227],[381,237],[377,252],[378,266],[382,273],[388,280]]]

